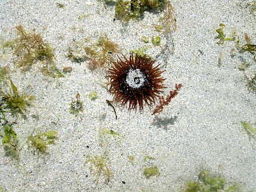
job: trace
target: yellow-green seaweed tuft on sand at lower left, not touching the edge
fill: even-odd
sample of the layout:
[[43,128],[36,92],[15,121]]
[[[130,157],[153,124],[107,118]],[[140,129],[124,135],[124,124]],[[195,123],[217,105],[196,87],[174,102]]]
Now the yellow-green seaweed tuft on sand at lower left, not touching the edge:
[[38,133],[29,136],[28,142],[31,146],[35,147],[38,152],[46,153],[49,144],[54,144],[57,139],[57,131],[47,131],[45,133]]

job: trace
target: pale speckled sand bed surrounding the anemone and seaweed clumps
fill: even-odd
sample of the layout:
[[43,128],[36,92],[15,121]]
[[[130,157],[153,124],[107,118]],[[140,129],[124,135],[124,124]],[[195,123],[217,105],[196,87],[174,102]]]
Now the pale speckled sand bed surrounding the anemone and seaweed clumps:
[[[57,2],[65,8],[58,8]],[[17,24],[35,28],[55,49],[57,67],[71,66],[73,71],[58,79],[45,77],[36,69],[11,73],[20,91],[36,96],[27,119],[16,120],[17,134],[26,139],[35,127],[52,129],[58,131],[58,140],[49,146],[49,154],[40,158],[24,147],[20,162],[10,161],[1,147],[0,186],[8,191],[182,191],[186,182],[208,169],[238,183],[242,191],[256,191],[256,143],[241,126],[241,121],[256,121],[255,93],[248,90],[245,75],[238,70],[239,56],[230,56],[235,43],[218,45],[214,39],[219,24],[224,23],[227,35],[236,31],[244,42],[243,34],[248,33],[255,40],[255,13],[249,10],[249,2],[171,1],[177,30],[170,34],[171,42],[162,35],[161,46],[147,53],[154,57],[168,43],[170,50],[156,59],[166,70],[163,77],[168,88],[164,93],[175,83],[183,87],[161,114],[152,116],[153,107],[140,112],[116,104],[115,120],[113,109],[105,102],[113,96],[101,86],[106,70],[90,71],[87,62],[71,62],[65,56],[67,48],[73,39],[96,40],[107,34],[127,55],[130,49],[145,46],[142,35],[160,34],[152,30],[159,15],[146,12],[142,20],[124,26],[113,21],[114,8],[106,10],[93,0],[1,1],[1,36],[4,29],[14,30]],[[79,20],[82,14],[89,16]],[[252,70],[246,75],[252,75]],[[98,92],[95,101],[88,97],[92,91]],[[78,117],[69,111],[77,92],[85,105]],[[39,119],[33,118],[35,115]],[[168,123],[157,118],[168,119]],[[121,137],[107,139],[113,178],[108,184],[99,178],[96,185],[85,161],[87,155],[105,151],[99,144],[101,128],[114,130]],[[133,164],[128,156],[134,156]],[[145,162],[145,156],[155,159]],[[142,169],[148,165],[158,166],[160,175],[146,179]]]

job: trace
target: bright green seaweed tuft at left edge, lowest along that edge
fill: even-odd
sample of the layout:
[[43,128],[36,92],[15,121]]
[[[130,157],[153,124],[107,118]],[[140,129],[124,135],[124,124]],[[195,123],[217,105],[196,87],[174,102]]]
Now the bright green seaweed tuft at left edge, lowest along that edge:
[[4,146],[4,151],[6,156],[10,156],[14,159],[18,159],[19,149],[18,149],[18,138],[17,133],[14,131],[12,125],[2,126],[2,145]]

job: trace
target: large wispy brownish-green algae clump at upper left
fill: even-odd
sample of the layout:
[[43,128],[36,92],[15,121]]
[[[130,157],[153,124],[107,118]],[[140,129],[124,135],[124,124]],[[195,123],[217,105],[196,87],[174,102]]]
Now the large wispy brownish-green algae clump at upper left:
[[41,34],[35,33],[35,30],[27,31],[22,25],[16,26],[15,29],[17,37],[2,45],[5,49],[10,48],[15,55],[15,67],[28,71],[35,66],[43,75],[57,77],[51,45],[43,40]]

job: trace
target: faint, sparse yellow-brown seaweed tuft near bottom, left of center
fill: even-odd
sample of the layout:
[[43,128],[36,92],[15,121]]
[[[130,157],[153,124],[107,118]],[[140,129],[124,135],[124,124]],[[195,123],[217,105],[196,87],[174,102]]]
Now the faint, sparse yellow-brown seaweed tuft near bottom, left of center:
[[98,182],[100,177],[103,177],[105,181],[110,181],[113,178],[110,166],[108,165],[107,159],[104,156],[87,156],[85,164],[90,164],[90,172],[96,177]]

